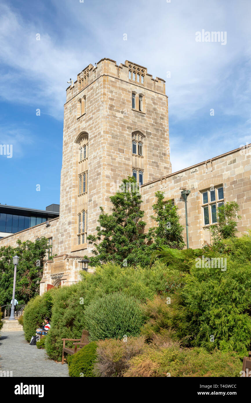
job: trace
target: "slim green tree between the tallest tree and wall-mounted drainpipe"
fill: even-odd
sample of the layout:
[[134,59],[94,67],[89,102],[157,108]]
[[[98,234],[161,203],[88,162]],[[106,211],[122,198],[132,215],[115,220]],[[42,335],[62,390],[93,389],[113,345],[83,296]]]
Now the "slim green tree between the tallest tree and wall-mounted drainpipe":
[[149,229],[149,236],[154,240],[152,249],[163,245],[183,249],[184,227],[179,222],[178,207],[172,205],[172,200],[164,202],[164,192],[157,191],[155,196],[157,198],[157,202],[153,204],[155,214],[151,216],[151,219],[157,223],[157,226]]

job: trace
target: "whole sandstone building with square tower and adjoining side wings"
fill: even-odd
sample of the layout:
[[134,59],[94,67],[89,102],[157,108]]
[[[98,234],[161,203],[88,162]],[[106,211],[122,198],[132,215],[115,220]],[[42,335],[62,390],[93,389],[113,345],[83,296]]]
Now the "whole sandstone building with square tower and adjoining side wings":
[[59,217],[0,240],[0,246],[15,246],[17,239],[49,239],[57,256],[44,264],[40,293],[79,280],[79,259],[91,256],[86,238],[95,233],[99,207],[110,211],[109,197],[132,174],[141,185],[147,228],[157,190],[174,200],[185,226],[180,188],[191,191],[189,247],[210,241],[205,229],[226,201],[240,206],[240,233],[251,228],[251,145],[172,173],[165,81],[128,60],[118,66],[104,58],[66,89]]

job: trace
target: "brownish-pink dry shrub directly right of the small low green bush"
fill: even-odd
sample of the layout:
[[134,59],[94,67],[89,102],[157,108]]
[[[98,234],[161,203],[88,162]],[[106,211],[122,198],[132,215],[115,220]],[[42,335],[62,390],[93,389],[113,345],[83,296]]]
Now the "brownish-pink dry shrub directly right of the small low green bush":
[[143,352],[143,337],[128,337],[127,341],[106,339],[97,341],[97,363],[95,370],[99,376],[122,376],[129,365],[129,359]]

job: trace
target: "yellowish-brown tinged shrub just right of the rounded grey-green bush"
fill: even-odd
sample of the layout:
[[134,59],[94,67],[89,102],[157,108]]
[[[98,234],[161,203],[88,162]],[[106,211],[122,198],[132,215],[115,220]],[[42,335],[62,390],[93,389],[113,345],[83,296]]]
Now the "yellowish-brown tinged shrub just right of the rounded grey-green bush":
[[[170,303],[169,303],[170,302]],[[183,343],[190,337],[190,324],[187,320],[187,310],[180,304],[177,296],[172,295],[170,300],[156,295],[153,301],[147,301],[141,306],[145,324],[141,334],[146,341],[153,340],[156,333],[163,329],[169,331],[172,340],[183,340]]]

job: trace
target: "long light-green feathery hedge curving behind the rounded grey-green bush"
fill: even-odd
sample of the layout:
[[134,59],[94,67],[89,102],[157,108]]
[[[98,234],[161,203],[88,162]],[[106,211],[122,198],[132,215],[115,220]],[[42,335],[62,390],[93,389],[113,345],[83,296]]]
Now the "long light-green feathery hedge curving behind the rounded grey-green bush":
[[[84,272],[77,285],[53,289],[51,329],[46,336],[46,351],[50,358],[61,359],[61,339],[80,339],[82,330],[87,328],[84,310],[92,301],[104,294],[121,291],[144,303],[153,299],[156,293],[166,292],[166,270],[159,262],[151,269],[108,263],[97,267],[94,273]],[[66,347],[72,347],[72,343],[66,341]]]

